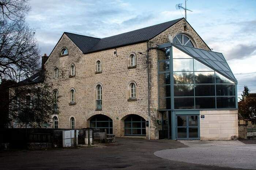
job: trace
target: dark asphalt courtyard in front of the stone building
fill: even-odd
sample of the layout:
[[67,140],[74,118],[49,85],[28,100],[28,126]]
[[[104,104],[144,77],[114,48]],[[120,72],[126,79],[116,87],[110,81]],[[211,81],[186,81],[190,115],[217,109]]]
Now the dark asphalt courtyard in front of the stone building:
[[[172,140],[148,141],[139,138],[116,140],[116,143],[110,145],[91,148],[1,151],[0,169],[234,169],[198,164],[196,161],[191,163],[183,159],[162,159],[154,155],[159,150],[189,149],[186,146],[189,144],[184,144],[183,141],[183,143]],[[248,150],[250,149],[252,147],[248,145]],[[244,150],[241,150],[240,154],[243,153]],[[180,157],[179,153],[173,154],[175,157]],[[192,153],[185,155],[189,154],[193,155]]]

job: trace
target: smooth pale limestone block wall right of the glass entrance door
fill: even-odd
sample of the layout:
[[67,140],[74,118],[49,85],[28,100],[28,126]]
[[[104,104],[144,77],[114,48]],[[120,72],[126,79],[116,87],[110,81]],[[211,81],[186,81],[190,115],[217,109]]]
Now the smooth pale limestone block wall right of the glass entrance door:
[[233,136],[238,137],[237,114],[237,110],[200,111],[200,139],[230,140]]

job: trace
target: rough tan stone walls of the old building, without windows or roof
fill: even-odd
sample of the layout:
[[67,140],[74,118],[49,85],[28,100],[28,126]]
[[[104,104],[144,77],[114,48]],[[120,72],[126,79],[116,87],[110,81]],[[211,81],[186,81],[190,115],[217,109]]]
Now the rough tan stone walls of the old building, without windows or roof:
[[[197,48],[210,50],[194,29],[187,24],[184,31],[184,19],[166,29],[153,39],[133,45],[118,47],[117,55],[114,49],[83,54],[82,51],[66,36],[61,37],[45,63],[49,75],[48,82],[53,83],[59,91],[60,114],[59,128],[70,128],[70,118],[75,118],[76,128],[90,126],[90,118],[97,114],[109,116],[113,120],[113,134],[117,137],[124,135],[124,119],[130,114],[142,116],[148,120],[148,86],[146,57],[138,54],[147,54],[147,46],[157,47],[168,43],[169,40],[184,33],[194,40]],[[63,47],[68,49],[68,55],[60,56]],[[128,69],[128,57],[136,56],[136,67]],[[149,54],[150,76],[150,137],[158,139],[158,130],[161,129],[157,120],[161,119],[158,112],[158,56],[157,49],[151,49]],[[95,63],[102,62],[102,72],[95,74]],[[75,65],[75,76],[69,78],[69,67]],[[59,69],[59,78],[53,79],[54,68]],[[129,83],[135,82],[137,86],[136,101],[128,101]],[[96,86],[102,86],[102,111],[95,110]],[[75,89],[75,104],[69,104],[69,91]],[[53,115],[54,116],[54,115]],[[148,137],[148,127],[146,127]]]

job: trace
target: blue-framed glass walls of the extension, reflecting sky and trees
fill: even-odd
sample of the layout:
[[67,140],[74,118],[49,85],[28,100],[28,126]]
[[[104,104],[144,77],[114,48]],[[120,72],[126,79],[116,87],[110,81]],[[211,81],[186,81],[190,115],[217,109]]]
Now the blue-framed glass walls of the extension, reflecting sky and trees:
[[236,108],[235,83],[177,48],[158,50],[158,68],[159,110]]

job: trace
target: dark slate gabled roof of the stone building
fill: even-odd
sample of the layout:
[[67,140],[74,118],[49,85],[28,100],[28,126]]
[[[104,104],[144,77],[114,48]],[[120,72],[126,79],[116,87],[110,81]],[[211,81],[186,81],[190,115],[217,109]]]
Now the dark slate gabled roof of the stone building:
[[165,31],[167,28],[176,24],[183,18],[168,21],[165,23],[153,25],[146,28],[137,29],[134,31],[121,33],[119,35],[114,35],[106,38],[95,38],[83,35],[77,35],[74,33],[64,32],[69,39],[71,39],[76,46],[84,53],[90,53],[95,51],[106,50],[109,48],[127,46],[135,43],[145,42],[157,36],[161,32]]

